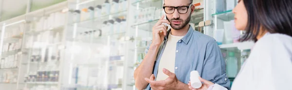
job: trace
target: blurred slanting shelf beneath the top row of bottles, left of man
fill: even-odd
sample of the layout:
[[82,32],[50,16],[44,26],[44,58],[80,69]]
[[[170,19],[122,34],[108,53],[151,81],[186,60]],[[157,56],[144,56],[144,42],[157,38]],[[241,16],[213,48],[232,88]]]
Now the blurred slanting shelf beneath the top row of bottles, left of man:
[[83,21],[79,21],[79,22],[73,22],[73,23],[69,23],[70,26],[74,26],[74,24],[77,24],[77,27],[81,27],[81,28],[88,28],[88,29],[95,29],[96,25],[102,25],[103,21],[107,21],[110,19],[114,19],[114,18],[119,18],[119,17],[127,17],[127,11],[120,11],[117,13],[111,13],[109,15],[102,15],[100,17],[94,17],[91,19],[86,19]]

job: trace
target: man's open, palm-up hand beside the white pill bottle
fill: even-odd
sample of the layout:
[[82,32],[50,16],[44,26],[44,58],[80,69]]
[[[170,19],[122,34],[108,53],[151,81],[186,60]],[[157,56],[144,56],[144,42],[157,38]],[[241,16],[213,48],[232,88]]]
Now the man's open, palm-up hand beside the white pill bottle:
[[167,69],[163,69],[163,73],[168,75],[168,78],[162,81],[154,81],[155,76],[151,75],[150,79],[145,78],[145,80],[150,84],[152,90],[180,90],[178,88],[181,82],[178,80],[174,73],[171,73]]

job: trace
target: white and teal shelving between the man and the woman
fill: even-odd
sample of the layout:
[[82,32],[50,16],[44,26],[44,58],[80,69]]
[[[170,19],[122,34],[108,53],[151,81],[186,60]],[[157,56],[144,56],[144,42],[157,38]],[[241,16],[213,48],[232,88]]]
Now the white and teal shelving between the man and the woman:
[[205,21],[211,20],[211,25],[204,28],[205,34],[214,37],[220,44],[219,47],[227,65],[226,73],[232,83],[240,70],[242,61],[248,57],[255,43],[237,42],[238,37],[244,33],[235,28],[234,14],[230,9],[233,6],[232,2],[236,6],[237,0],[221,1],[223,0],[205,0],[205,7],[208,7],[204,12]]

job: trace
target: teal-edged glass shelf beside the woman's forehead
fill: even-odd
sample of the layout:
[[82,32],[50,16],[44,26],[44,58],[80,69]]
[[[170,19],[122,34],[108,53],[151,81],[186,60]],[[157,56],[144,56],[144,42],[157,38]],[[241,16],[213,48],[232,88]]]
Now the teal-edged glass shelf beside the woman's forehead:
[[234,20],[234,14],[232,13],[232,10],[216,13],[216,14],[213,14],[212,16],[217,16],[217,18],[219,18],[223,21]]

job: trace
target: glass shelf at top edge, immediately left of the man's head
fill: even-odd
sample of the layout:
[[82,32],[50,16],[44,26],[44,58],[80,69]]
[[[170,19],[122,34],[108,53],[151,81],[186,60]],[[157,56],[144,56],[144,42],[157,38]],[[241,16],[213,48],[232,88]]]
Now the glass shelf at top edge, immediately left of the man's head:
[[140,8],[148,8],[151,6],[161,8],[162,0],[138,0],[132,3],[133,6],[139,6]]

